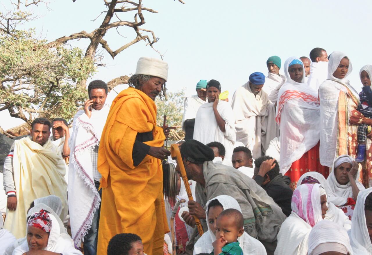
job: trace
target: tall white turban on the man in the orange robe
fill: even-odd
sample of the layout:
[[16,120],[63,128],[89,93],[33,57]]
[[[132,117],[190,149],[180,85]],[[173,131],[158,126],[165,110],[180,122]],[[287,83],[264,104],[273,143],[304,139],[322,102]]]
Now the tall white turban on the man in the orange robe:
[[136,74],[151,75],[167,81],[168,63],[151,57],[140,57],[137,62]]

